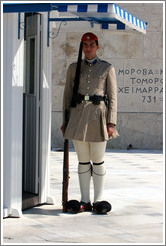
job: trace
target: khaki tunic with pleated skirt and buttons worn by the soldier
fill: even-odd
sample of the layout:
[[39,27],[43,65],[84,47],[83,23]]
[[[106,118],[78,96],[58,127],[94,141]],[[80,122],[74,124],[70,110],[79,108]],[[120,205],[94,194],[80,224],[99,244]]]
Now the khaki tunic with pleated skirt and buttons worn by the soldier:
[[[117,84],[114,67],[106,61],[97,58],[95,64],[81,63],[80,84],[78,93],[82,95],[107,95],[109,105],[104,101],[99,105],[82,101],[71,108],[76,63],[70,64],[63,96],[63,122],[65,112],[69,113],[69,121],[65,131],[65,139],[86,142],[103,142],[109,140],[107,123],[117,122]],[[118,136],[117,130],[111,138]]]

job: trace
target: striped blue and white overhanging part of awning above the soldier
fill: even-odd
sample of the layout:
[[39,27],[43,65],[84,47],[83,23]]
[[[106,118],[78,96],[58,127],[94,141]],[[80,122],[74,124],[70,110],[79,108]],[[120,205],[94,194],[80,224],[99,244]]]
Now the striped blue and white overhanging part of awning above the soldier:
[[115,3],[62,5],[59,6],[58,11],[69,12],[85,20],[89,19],[89,21],[101,24],[104,29],[108,29],[108,24],[118,24],[118,29],[124,29],[124,25],[126,25],[129,28],[146,33],[146,23],[143,20]]

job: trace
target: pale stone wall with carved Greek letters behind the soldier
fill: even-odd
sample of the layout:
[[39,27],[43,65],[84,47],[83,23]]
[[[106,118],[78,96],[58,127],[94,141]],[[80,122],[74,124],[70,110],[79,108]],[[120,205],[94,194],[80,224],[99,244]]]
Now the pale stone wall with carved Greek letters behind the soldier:
[[[147,34],[126,28],[90,27],[88,22],[62,23],[52,41],[52,147],[62,148],[62,97],[66,70],[77,60],[81,36],[94,32],[99,38],[97,55],[114,65],[118,84],[120,137],[108,148],[162,149],[163,147],[163,4],[120,3],[148,22]],[[53,28],[58,31],[59,23]],[[72,143],[70,143],[72,146]]]

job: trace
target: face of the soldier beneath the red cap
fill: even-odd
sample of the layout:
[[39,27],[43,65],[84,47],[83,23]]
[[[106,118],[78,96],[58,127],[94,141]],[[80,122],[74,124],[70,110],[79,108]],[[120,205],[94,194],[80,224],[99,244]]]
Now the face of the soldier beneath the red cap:
[[84,41],[82,49],[85,54],[85,58],[87,58],[88,60],[95,58],[98,48],[99,45],[96,44],[95,40]]

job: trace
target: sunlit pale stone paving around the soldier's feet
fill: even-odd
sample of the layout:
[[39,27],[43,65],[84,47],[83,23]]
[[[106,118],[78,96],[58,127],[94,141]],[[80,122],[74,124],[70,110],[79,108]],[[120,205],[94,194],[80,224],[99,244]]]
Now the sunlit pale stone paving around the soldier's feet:
[[[164,243],[164,159],[161,151],[111,150],[104,198],[107,215],[62,213],[63,152],[51,152],[51,195],[55,205],[41,205],[21,218],[3,220],[4,244],[156,244]],[[91,186],[93,201],[93,186]],[[79,200],[77,157],[70,151],[69,199]]]

